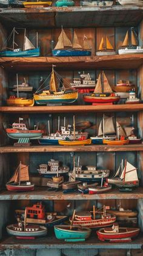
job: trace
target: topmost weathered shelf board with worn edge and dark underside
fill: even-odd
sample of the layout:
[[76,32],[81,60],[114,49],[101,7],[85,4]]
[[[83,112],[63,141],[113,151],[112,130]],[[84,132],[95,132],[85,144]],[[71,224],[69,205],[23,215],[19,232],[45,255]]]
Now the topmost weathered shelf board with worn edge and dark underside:
[[47,7],[0,9],[0,21],[5,26],[43,27],[110,27],[136,26],[143,18],[143,8],[111,7]]

